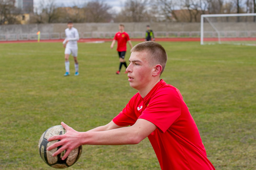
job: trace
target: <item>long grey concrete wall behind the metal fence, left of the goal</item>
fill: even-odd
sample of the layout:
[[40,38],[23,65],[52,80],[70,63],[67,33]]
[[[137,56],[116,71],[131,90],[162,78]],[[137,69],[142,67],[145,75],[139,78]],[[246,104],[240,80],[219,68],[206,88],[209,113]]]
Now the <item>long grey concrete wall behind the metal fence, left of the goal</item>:
[[[153,31],[200,31],[200,23],[123,23],[125,31],[145,31],[150,25]],[[74,23],[79,32],[117,32],[119,23]],[[67,24],[27,24],[27,25],[0,25],[0,34],[10,33],[42,33],[64,32]]]

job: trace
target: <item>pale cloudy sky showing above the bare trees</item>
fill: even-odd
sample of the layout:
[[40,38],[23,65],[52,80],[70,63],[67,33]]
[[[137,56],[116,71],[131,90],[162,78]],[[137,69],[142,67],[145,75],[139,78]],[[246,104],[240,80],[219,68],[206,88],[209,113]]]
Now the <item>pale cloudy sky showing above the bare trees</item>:
[[[34,0],[34,8],[37,8],[41,1],[49,2],[52,0]],[[88,1],[93,0],[54,0],[57,6],[64,6],[64,7],[73,7],[83,5]],[[101,1],[101,0],[100,0]],[[112,10],[116,12],[120,12],[121,8],[124,6],[125,0],[103,0],[104,3],[108,4],[112,7]]]

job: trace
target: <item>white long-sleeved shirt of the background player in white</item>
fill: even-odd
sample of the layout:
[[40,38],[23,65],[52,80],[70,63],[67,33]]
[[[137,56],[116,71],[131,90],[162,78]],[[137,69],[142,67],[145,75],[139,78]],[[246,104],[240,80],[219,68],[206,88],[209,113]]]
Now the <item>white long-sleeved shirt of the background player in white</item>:
[[79,33],[76,28],[72,27],[71,29],[65,29],[66,38],[63,41],[63,44],[68,40],[67,46],[68,48],[78,48],[77,41],[79,40]]

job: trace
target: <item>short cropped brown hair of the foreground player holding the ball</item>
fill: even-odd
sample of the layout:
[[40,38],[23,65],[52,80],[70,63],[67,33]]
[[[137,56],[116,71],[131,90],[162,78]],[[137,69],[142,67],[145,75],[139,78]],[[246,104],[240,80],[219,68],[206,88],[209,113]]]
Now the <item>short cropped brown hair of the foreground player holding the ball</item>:
[[[131,52],[147,52],[148,56],[150,56],[151,64],[160,64],[165,70],[166,62],[167,62],[167,53],[165,49],[155,41],[144,41],[142,43],[137,44],[131,49]],[[161,71],[160,75],[162,74]]]

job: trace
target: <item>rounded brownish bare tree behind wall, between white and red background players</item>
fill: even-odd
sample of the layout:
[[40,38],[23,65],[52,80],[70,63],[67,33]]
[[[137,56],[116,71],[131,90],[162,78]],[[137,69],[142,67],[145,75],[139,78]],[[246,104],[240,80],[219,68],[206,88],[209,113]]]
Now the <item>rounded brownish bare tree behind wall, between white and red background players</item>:
[[103,1],[90,1],[84,5],[84,13],[87,22],[109,22],[112,15],[109,12],[111,7]]

